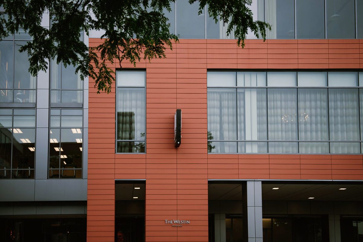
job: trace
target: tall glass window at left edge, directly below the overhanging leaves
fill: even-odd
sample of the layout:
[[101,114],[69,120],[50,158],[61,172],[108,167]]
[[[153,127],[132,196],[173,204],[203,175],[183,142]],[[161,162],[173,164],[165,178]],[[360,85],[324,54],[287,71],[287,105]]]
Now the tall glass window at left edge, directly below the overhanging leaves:
[[25,44],[21,36],[0,42],[0,102],[36,102],[36,77],[28,72],[28,54],[19,52]]

